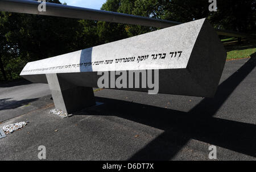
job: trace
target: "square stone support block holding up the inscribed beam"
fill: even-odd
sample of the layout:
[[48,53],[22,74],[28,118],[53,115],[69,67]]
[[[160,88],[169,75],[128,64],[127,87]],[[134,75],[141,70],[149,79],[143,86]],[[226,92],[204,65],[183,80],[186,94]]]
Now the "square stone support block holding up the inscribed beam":
[[92,87],[81,87],[61,78],[58,74],[46,74],[55,108],[68,114],[96,104]]

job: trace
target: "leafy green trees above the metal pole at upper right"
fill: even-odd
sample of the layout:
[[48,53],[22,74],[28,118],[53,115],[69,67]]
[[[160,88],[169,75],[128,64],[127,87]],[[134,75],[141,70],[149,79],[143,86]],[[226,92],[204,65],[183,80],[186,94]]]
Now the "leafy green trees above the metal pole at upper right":
[[[109,1],[111,0],[106,1],[106,3]],[[210,3],[207,0],[121,0],[118,5],[117,11],[126,14],[173,20],[181,23],[207,18],[216,28],[247,33],[255,33],[256,31],[255,0],[217,1],[217,12],[209,11]],[[152,30],[155,30],[155,28],[127,27],[126,25],[126,32],[129,36]]]

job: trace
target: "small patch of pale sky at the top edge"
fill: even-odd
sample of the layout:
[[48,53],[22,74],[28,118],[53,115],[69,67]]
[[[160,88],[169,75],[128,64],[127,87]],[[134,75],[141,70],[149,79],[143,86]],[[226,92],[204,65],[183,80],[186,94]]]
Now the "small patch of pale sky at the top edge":
[[61,3],[67,2],[67,5],[84,7],[88,9],[100,10],[106,0],[60,0]]

